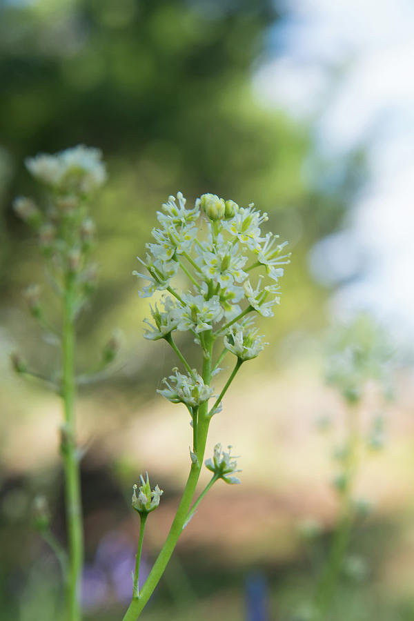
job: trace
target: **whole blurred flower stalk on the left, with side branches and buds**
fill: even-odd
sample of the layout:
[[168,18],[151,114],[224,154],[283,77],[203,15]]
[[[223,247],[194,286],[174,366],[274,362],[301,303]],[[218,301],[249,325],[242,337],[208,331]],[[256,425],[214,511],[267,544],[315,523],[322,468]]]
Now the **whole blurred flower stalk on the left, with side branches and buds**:
[[[57,553],[62,566],[66,619],[79,621],[83,523],[79,475],[81,453],[77,446],[75,417],[75,324],[95,288],[96,268],[90,262],[95,224],[88,215],[88,205],[95,190],[105,181],[106,171],[101,161],[101,152],[84,146],[70,148],[57,155],[41,154],[28,158],[26,166],[46,190],[45,204],[40,208],[32,199],[19,197],[14,201],[14,210],[37,232],[48,284],[61,299],[61,328],[53,328],[46,317],[39,286],[29,286],[26,298],[33,317],[60,344],[61,373],[48,378],[32,371],[18,356],[14,356],[13,362],[19,373],[31,375],[48,386],[54,386],[63,401],[61,455],[65,480],[68,552],[61,549],[48,530],[48,524],[43,522],[41,532]],[[112,341],[103,351],[101,368],[113,359],[115,350],[116,344]]]

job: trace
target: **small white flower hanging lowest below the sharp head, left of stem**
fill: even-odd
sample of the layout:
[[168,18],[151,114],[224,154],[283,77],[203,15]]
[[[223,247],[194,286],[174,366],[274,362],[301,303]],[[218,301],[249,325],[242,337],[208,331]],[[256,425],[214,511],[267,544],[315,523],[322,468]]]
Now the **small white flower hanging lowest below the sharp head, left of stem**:
[[175,375],[164,377],[164,384],[167,388],[158,390],[157,393],[166,397],[172,403],[184,403],[188,407],[197,407],[205,403],[213,395],[214,390],[204,384],[203,378],[193,369],[191,375],[179,373],[177,368],[173,368]]

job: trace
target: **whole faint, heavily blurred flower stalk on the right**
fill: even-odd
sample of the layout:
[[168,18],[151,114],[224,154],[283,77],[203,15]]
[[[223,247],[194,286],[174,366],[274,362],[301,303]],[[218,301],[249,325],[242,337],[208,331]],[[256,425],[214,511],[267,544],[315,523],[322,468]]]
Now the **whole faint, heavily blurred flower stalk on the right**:
[[[328,618],[331,611],[358,513],[359,505],[354,495],[364,440],[362,400],[368,382],[380,384],[384,395],[389,395],[390,358],[391,348],[383,331],[368,315],[359,315],[350,324],[338,326],[331,335],[326,379],[339,390],[346,403],[346,437],[343,446],[335,451],[335,457],[341,465],[334,480],[339,500],[339,517],[328,560],[315,591],[313,609],[318,621]],[[380,447],[381,431],[382,426],[379,426],[376,418],[368,436],[368,446]]]

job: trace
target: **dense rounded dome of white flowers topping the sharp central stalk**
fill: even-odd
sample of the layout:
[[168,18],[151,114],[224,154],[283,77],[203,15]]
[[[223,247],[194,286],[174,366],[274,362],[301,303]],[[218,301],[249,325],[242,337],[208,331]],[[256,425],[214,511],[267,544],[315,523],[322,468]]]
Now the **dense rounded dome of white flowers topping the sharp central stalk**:
[[[275,245],[277,235],[262,237],[260,225],[268,219],[266,214],[253,204],[243,208],[212,194],[201,196],[187,209],[186,199],[178,193],[177,199],[170,196],[162,208],[157,213],[161,226],[152,230],[155,241],[146,245],[146,260],[139,259],[148,275],[135,275],[148,281],[141,297],[168,290],[175,301],[170,298],[168,302],[167,297],[163,313],[157,308],[152,311],[155,327],[147,331],[147,338],[162,338],[175,329],[218,333],[221,322],[222,327],[246,307],[248,312],[273,316],[273,306],[280,300],[281,266],[289,262],[289,255],[282,254],[285,244]],[[204,227],[199,226],[200,220]],[[247,266],[249,257],[252,264]],[[270,278],[268,284],[263,283],[263,275],[255,284],[250,281],[250,270],[260,266]],[[180,294],[171,290],[180,269],[195,290]],[[244,309],[239,304],[243,300]]]

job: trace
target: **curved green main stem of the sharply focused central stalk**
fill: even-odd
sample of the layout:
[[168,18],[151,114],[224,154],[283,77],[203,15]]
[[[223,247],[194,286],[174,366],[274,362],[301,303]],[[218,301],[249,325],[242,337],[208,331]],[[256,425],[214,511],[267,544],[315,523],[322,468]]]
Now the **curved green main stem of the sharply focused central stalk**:
[[[211,335],[208,338],[209,346],[208,346],[208,356],[204,357],[203,362],[203,373],[202,377],[205,384],[210,384],[211,380],[211,351],[213,348],[213,339]],[[152,595],[155,587],[157,586],[161,576],[166,569],[168,561],[172,555],[172,552],[175,549],[177,541],[179,540],[179,536],[181,535],[184,524],[186,524],[188,511],[190,509],[191,502],[193,500],[193,496],[195,493],[195,489],[197,486],[197,482],[199,480],[199,475],[201,471],[201,464],[203,463],[204,452],[206,451],[206,440],[208,433],[208,425],[210,423],[210,418],[208,417],[208,405],[207,402],[205,404],[201,404],[199,406],[199,422],[197,426],[197,454],[198,454],[198,462],[196,464],[191,464],[190,473],[188,475],[186,487],[184,488],[184,493],[181,497],[181,502],[179,503],[177,513],[175,514],[175,518],[172,521],[170,532],[166,538],[164,546],[161,549],[161,552],[158,555],[157,560],[155,561],[154,566],[148,575],[148,578],[141,589],[141,593],[139,593],[138,598],[132,598],[132,602],[128,607],[124,615],[123,621],[135,621],[142,610],[144,609],[146,603],[148,602],[150,596]]]

